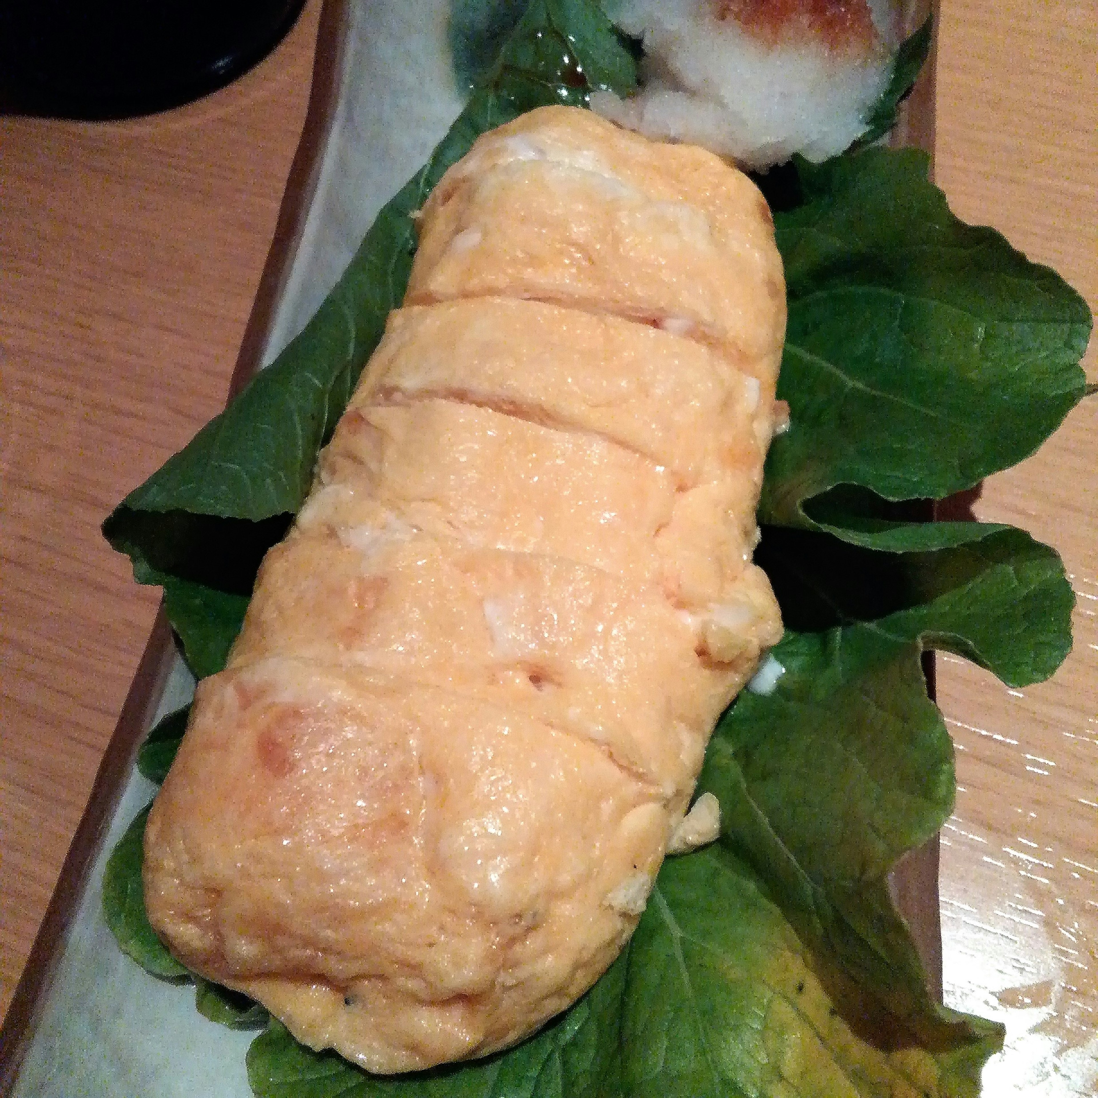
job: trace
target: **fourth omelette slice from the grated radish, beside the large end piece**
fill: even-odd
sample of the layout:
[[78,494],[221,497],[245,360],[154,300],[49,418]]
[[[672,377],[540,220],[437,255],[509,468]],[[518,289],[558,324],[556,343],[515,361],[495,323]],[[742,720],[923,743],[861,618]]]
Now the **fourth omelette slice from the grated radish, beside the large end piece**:
[[[762,603],[750,616],[771,629],[764,580],[736,593],[744,617]],[[602,569],[421,535],[363,546],[343,530],[268,554],[229,665],[324,659],[525,712],[596,744],[675,814],[693,792],[709,715],[774,639],[740,628],[736,652],[698,659],[690,614]]]

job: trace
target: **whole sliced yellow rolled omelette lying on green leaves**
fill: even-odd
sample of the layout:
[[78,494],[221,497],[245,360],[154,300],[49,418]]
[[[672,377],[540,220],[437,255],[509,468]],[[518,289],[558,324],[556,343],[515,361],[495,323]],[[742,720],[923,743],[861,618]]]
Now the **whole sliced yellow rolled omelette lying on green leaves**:
[[505,1047],[597,979],[781,636],[753,186],[548,108],[419,229],[145,836],[172,952],[379,1073]]

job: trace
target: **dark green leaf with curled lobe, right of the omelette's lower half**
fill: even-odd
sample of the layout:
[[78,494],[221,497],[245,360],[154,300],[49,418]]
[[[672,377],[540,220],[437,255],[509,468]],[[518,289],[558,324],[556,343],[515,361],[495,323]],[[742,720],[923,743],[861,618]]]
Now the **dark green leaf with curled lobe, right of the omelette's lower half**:
[[785,673],[773,694],[747,692],[725,715],[699,783],[803,940],[930,1043],[957,1023],[930,1000],[886,882],[953,806],[952,743],[921,652],[948,648],[1021,685],[1051,674],[1071,645],[1056,554],[1019,530],[984,530],[959,549],[900,557],[768,531],[794,626],[772,652]]

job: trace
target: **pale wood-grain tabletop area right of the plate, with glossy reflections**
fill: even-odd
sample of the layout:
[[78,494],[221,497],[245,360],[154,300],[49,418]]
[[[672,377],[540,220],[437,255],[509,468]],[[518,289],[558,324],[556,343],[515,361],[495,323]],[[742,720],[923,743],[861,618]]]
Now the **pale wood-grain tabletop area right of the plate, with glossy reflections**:
[[[942,7],[935,171],[954,211],[1004,232],[1098,303],[1098,4]],[[1085,365],[1096,373],[1091,340]],[[1054,546],[1076,592],[1075,649],[1009,691],[939,659],[957,748],[942,837],[946,1001],[1007,1026],[989,1096],[1098,1094],[1098,397],[979,518]]]

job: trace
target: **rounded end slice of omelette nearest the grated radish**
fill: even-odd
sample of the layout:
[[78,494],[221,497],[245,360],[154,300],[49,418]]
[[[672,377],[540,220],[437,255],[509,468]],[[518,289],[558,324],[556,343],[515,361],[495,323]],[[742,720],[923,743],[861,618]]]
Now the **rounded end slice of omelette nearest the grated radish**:
[[773,396],[785,284],[751,181],[688,145],[545,108],[481,137],[424,206],[407,304],[504,294],[690,335]]

